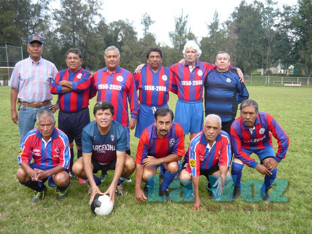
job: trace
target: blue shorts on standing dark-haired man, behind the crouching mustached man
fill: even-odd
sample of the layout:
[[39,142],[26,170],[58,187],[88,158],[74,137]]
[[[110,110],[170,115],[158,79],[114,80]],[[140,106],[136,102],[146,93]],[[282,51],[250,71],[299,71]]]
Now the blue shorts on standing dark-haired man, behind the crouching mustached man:
[[148,106],[143,103],[140,103],[140,108],[138,109],[137,115],[137,126],[135,137],[140,138],[143,130],[150,124],[154,123],[155,121],[154,114],[156,110],[161,107],[169,108],[167,103],[162,106]]

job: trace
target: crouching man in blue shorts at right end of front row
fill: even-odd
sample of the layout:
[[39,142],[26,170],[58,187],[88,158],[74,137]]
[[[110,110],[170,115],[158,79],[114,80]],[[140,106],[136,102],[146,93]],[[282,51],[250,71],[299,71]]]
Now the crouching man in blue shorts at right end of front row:
[[[277,139],[276,154],[274,154],[272,135]],[[231,144],[234,153],[233,180],[236,177],[232,200],[240,195],[240,179],[246,164],[265,175],[260,192],[265,201],[269,201],[269,189],[276,178],[278,163],[285,158],[289,147],[286,133],[272,116],[265,112],[258,112],[256,101],[245,100],[240,104],[240,117],[235,119],[231,126]],[[261,164],[250,157],[252,153],[260,158]]]

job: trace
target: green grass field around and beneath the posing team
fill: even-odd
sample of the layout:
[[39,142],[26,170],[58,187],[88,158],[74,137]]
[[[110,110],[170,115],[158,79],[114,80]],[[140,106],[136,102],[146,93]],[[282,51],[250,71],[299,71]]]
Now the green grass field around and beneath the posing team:
[[[312,232],[312,89],[306,87],[248,86],[259,110],[270,113],[290,138],[290,148],[278,166],[277,179],[288,180],[287,202],[216,202],[205,190],[201,177],[202,208],[191,211],[190,202],[145,202],[135,199],[134,182],[124,184],[126,195],[117,197],[109,216],[95,216],[88,206],[87,185],[71,181],[68,197],[60,202],[48,188],[46,197],[32,203],[33,193],[16,179],[19,168],[18,127],[10,117],[10,87],[0,87],[0,233],[311,233]],[[93,108],[95,98],[91,100]],[[174,109],[176,97],[171,95]],[[135,157],[138,139],[133,137]],[[273,142],[276,146],[276,141]],[[276,147],[275,147],[276,148]],[[100,185],[105,191],[113,176]],[[131,178],[134,180],[134,175]],[[256,170],[243,169],[242,181],[263,179]]]

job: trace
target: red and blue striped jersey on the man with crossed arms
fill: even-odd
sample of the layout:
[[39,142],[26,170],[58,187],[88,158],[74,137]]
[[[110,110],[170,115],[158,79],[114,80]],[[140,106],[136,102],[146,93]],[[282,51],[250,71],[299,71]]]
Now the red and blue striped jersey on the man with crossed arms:
[[[61,80],[73,82],[73,91],[62,93]],[[89,106],[91,73],[81,68],[75,73],[68,69],[59,71],[51,85],[51,94],[59,95],[59,108],[65,112],[75,112]]]

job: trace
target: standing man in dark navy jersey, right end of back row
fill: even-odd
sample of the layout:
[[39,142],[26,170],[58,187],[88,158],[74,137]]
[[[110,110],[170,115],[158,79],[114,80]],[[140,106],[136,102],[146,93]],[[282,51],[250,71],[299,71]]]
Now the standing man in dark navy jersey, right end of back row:
[[209,72],[205,81],[205,114],[216,114],[221,118],[222,130],[230,134],[237,106],[249,98],[247,88],[231,69],[230,55],[221,51],[216,55],[216,69]]

